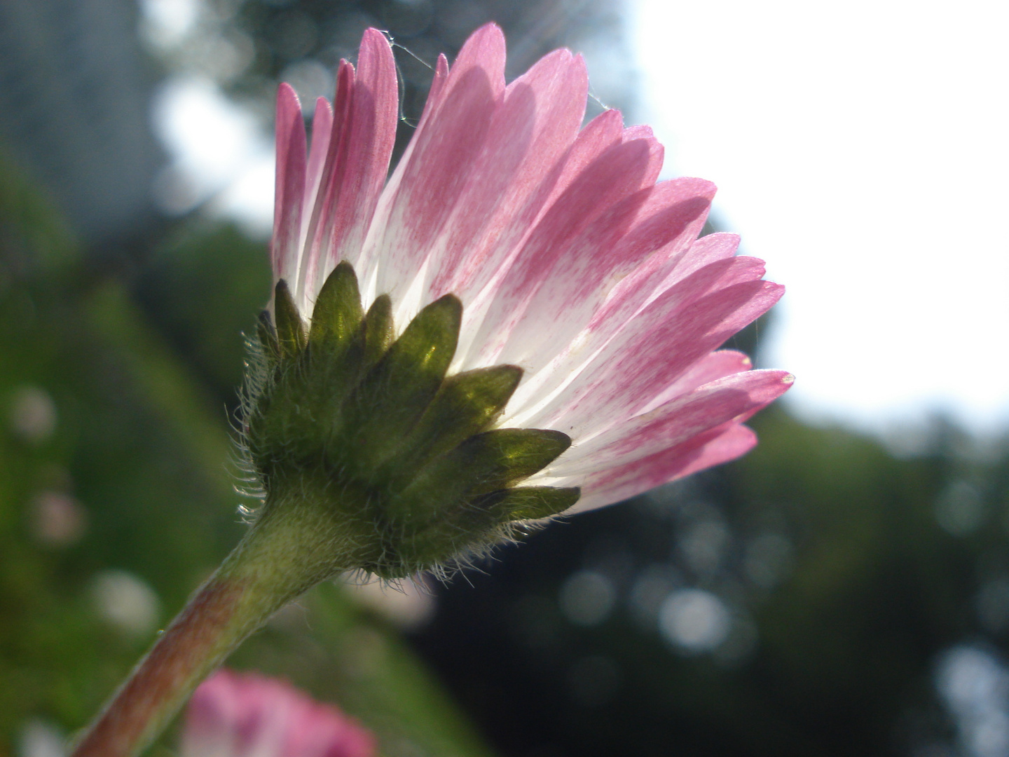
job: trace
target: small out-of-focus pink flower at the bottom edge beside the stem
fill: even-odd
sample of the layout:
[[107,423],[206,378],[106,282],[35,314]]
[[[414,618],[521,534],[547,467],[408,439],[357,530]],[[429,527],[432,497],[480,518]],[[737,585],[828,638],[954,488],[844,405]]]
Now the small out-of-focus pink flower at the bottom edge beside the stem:
[[284,681],[219,670],[190,700],[182,757],[373,757],[375,741],[335,707]]

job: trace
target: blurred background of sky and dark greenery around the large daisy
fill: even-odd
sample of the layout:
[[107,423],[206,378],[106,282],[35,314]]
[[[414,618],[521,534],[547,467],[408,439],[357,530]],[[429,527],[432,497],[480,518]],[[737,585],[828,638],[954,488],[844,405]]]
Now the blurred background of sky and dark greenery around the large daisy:
[[[447,585],[329,584],[230,664],[383,755],[1009,757],[1005,11],[659,0],[0,4],[0,756],[57,757],[241,533],[278,81],[500,23],[583,51],[790,289],[746,458]],[[173,753],[169,735],[152,754]]]

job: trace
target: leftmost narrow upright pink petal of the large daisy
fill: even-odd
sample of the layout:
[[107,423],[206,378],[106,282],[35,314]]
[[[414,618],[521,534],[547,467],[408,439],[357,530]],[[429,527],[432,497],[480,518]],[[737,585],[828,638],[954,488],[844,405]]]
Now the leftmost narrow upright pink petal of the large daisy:
[[276,184],[273,199],[273,280],[298,276],[302,202],[305,192],[305,121],[298,95],[289,84],[276,92]]

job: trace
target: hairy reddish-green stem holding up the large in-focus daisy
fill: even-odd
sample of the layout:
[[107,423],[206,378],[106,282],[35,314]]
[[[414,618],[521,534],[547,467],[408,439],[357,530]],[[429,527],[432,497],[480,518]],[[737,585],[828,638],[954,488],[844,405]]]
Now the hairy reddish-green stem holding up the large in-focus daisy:
[[159,636],[78,742],[73,757],[133,757],[273,613],[342,569],[339,524],[301,500],[270,502]]

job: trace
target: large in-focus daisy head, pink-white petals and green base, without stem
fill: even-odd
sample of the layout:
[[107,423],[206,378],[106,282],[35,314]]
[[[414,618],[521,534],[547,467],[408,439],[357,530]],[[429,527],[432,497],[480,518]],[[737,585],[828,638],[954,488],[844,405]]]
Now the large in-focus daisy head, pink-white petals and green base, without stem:
[[404,575],[738,457],[792,381],[717,349],[782,288],[737,236],[698,238],[714,187],[657,183],[662,146],[618,111],[582,128],[579,56],[503,72],[493,24],[441,57],[387,182],[381,33],[316,103],[311,149],[281,87],[247,439],[268,497],[331,503],[349,567]]

